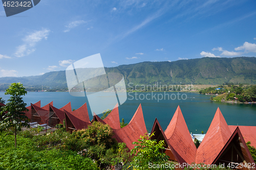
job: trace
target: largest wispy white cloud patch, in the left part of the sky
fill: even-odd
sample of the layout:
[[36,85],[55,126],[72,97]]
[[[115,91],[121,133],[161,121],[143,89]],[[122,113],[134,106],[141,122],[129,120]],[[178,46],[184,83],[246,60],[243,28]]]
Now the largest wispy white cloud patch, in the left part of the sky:
[[42,39],[47,40],[50,30],[42,29],[40,31],[34,31],[23,38],[24,44],[17,47],[17,51],[14,53],[16,57],[27,56],[35,51],[34,46]]

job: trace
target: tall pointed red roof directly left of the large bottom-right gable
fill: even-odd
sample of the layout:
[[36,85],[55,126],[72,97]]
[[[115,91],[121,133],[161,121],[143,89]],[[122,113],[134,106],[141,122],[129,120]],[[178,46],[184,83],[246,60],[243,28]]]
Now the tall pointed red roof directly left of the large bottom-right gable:
[[203,141],[197,149],[196,163],[212,164],[231,135],[226,120],[218,108]]

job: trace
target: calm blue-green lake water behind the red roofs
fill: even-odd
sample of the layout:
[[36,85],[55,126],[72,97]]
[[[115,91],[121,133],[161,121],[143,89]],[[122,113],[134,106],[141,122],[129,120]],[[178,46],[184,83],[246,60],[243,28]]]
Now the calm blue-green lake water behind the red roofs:
[[[177,95],[177,92],[167,93],[169,95]],[[151,131],[156,117],[160,122],[163,130],[165,130],[170,120],[172,119],[178,105],[180,105],[188,129],[192,133],[201,133],[201,131],[206,133],[218,107],[220,108],[228,125],[256,126],[255,104],[245,105],[212,102],[209,100],[209,95],[188,92],[180,93],[184,94],[183,99],[185,99],[185,95],[187,96],[185,100],[178,100],[176,98],[176,100],[166,99],[159,100],[159,102],[154,98],[152,100],[151,92],[137,92],[137,94],[130,92],[129,94],[130,95],[127,96],[126,102],[119,107],[120,119],[124,118],[125,123],[129,123],[139,104],[141,104],[146,128],[148,131]],[[146,94],[148,94],[147,99],[150,98],[151,100],[140,100],[143,99],[142,95]],[[154,92],[153,95],[154,94],[156,94],[157,98],[158,94],[161,96],[161,94],[164,95],[164,92]],[[100,112],[105,109],[113,109],[109,107],[110,105],[115,105],[115,103],[111,103],[108,100],[111,95],[112,93],[107,92],[98,93],[98,98],[106,99],[107,101],[106,104],[98,103],[98,110],[101,110]],[[122,95],[125,95],[125,93]],[[135,99],[135,95],[137,95],[138,100]],[[139,95],[141,97],[140,99]],[[133,100],[132,96],[134,98]],[[0,97],[2,97],[6,102],[9,99],[9,96],[4,95],[4,92],[0,92]],[[181,98],[181,95],[179,98]],[[77,109],[84,103],[88,102],[86,98],[71,96],[69,92],[28,92],[28,94],[24,96],[24,101],[28,104],[28,106],[30,103],[36,103],[39,100],[41,100],[41,106],[44,106],[53,101],[53,106],[56,108],[61,108],[67,103],[71,102],[72,109]],[[97,103],[97,99],[92,102]],[[89,113],[89,116],[90,119],[92,119],[92,114]],[[101,114],[99,116],[101,116]]]

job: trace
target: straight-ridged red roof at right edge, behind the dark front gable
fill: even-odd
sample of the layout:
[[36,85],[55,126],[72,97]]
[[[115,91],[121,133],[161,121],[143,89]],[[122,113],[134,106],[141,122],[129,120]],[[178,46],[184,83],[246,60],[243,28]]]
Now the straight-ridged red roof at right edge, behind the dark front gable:
[[[234,132],[236,130],[237,126],[228,126],[231,132]],[[256,148],[256,126],[238,126],[245,142],[250,141],[251,146]]]

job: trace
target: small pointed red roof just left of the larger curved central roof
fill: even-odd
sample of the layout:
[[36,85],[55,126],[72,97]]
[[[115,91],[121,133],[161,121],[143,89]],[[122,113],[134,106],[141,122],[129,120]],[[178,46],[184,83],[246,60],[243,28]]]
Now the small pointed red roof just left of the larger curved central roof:
[[119,119],[119,112],[118,112],[118,103],[114,107],[114,109],[110,112],[103,121],[108,124],[112,129],[120,129],[120,119]]

